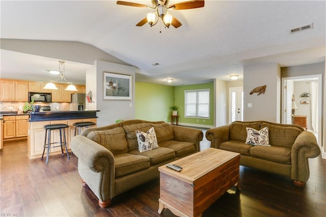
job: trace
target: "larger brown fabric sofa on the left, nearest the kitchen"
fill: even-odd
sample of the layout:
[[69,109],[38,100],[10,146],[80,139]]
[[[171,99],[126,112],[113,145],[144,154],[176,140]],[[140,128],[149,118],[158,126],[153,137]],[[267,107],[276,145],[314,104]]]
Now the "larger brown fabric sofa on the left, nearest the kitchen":
[[[154,127],[159,148],[139,152],[135,130]],[[200,150],[203,131],[165,122],[127,120],[87,128],[71,141],[78,157],[78,172],[99,200],[110,206],[112,198],[159,177],[158,167]]]

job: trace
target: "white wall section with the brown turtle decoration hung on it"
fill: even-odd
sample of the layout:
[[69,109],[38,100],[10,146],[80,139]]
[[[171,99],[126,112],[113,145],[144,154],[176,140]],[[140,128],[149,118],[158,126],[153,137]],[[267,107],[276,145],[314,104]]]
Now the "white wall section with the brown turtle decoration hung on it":
[[[266,85],[265,94],[250,92]],[[243,68],[243,120],[281,121],[281,70],[274,64],[254,65]],[[248,103],[252,107],[248,107]]]

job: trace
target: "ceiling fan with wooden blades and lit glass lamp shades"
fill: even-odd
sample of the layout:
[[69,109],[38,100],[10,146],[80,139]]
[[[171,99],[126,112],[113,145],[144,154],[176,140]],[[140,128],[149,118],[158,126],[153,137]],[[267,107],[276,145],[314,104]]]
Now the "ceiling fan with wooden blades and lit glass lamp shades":
[[174,28],[178,28],[182,25],[182,23],[177,18],[173,17],[168,12],[169,10],[202,8],[204,7],[205,2],[204,0],[194,0],[169,5],[169,0],[152,0],[153,6],[149,6],[138,3],[117,1],[117,5],[125,5],[139,8],[151,8],[155,10],[155,13],[148,13],[144,19],[142,19],[139,23],[136,24],[136,26],[143,26],[146,22],[148,22],[150,26],[153,26],[158,22],[159,18],[161,18],[167,28],[170,27],[170,24],[174,26]]

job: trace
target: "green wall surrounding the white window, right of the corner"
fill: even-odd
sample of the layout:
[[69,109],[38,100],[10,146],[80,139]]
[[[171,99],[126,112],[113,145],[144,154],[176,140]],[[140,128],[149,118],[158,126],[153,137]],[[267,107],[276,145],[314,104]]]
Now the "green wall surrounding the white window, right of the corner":
[[[201,90],[209,89],[209,119],[201,118],[185,118],[184,117],[184,91],[186,90]],[[174,105],[179,107],[178,115],[179,122],[189,124],[200,124],[200,125],[214,125],[214,84],[205,83],[198,85],[184,85],[174,87]]]

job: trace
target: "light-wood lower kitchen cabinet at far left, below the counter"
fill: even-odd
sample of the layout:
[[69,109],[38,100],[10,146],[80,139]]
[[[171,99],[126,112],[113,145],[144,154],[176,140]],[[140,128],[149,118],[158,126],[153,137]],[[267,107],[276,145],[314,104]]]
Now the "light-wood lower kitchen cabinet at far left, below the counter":
[[27,137],[28,119],[28,115],[4,116],[3,139]]

